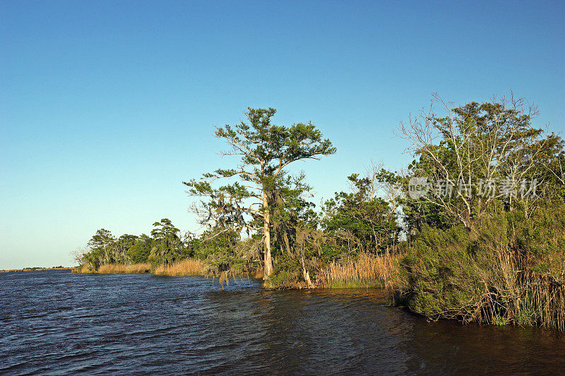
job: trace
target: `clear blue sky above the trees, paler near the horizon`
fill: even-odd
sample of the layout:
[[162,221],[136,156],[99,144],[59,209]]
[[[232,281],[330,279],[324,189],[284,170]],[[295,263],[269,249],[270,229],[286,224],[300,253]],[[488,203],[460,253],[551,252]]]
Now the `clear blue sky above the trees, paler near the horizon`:
[[316,202],[432,92],[512,89],[565,131],[564,1],[1,1],[0,269],[70,265],[104,227],[195,229],[182,181],[227,166],[214,125],[246,107],[314,121],[338,152]]

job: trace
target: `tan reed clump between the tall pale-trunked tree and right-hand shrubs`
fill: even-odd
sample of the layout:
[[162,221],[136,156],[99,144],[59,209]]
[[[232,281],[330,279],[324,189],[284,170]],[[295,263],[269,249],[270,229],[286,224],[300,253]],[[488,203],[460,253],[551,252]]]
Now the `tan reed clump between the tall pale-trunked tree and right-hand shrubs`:
[[323,267],[317,283],[323,287],[386,287],[393,284],[400,255],[362,253]]

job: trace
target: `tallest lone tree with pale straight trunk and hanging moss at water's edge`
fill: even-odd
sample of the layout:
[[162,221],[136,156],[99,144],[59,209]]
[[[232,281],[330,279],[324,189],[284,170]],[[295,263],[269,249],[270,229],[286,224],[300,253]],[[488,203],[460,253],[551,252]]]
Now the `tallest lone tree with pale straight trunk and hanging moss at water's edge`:
[[263,234],[266,277],[273,268],[273,245],[290,254],[297,227],[315,226],[308,218],[315,217],[312,205],[303,197],[310,187],[302,174],[292,176],[287,166],[335,152],[314,124],[278,126],[272,121],[275,112],[248,108],[247,121],[216,128],[216,137],[232,147],[225,154],[239,157],[239,163],[184,182],[190,195],[205,198],[193,207],[201,224],[237,233],[245,230],[248,236]]

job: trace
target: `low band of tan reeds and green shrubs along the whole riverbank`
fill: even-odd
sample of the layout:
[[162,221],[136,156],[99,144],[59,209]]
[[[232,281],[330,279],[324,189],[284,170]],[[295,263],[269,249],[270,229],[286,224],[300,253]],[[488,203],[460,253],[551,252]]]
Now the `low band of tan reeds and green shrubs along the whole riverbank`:
[[[501,222],[502,223],[502,222]],[[395,253],[359,253],[332,262],[311,262],[304,269],[295,259],[280,257],[263,289],[381,289],[391,305],[408,308],[429,320],[463,323],[554,327],[565,330],[563,255],[552,252],[526,257],[516,238],[518,224],[489,222],[469,232],[454,227],[430,230],[410,247]],[[499,238],[487,236],[496,229]],[[506,239],[506,240],[504,240]],[[550,262],[552,262],[550,264]],[[220,284],[230,278],[258,277],[260,272],[220,269],[210,260],[185,259],[169,265],[102,265],[108,273],[154,273],[162,276],[206,276]],[[93,273],[88,268],[75,272]]]

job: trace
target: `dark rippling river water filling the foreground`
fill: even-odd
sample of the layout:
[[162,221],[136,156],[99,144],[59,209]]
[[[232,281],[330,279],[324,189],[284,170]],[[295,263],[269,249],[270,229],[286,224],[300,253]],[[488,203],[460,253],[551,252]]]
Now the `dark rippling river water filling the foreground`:
[[378,290],[222,291],[200,277],[0,274],[0,374],[565,372],[565,336],[427,322]]

